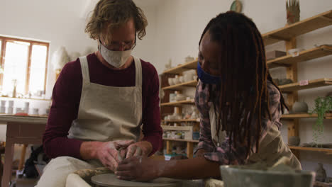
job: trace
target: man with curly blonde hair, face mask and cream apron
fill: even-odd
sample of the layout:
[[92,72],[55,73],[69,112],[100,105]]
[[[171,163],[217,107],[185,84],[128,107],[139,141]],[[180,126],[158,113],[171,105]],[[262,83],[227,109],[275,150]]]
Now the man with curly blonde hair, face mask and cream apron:
[[98,51],[67,63],[57,79],[43,135],[52,160],[38,186],[65,186],[79,169],[115,171],[122,159],[160,148],[157,71],[131,56],[147,25],[132,0],[96,4],[85,31],[99,42]]

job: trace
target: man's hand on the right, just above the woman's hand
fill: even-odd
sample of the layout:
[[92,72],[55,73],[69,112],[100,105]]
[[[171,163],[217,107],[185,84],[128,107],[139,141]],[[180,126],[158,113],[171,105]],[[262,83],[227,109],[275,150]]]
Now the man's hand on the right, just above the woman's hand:
[[148,141],[136,142],[127,147],[126,158],[138,156],[148,157],[150,152],[152,152],[152,149],[153,146]]

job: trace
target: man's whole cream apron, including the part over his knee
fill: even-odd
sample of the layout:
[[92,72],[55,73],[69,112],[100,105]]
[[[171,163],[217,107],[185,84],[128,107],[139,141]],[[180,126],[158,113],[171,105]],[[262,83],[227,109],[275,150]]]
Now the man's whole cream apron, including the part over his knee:
[[[69,138],[107,142],[135,140],[142,125],[142,67],[134,57],[135,86],[113,87],[90,82],[87,57],[79,57],[82,67],[82,94],[77,119]],[[94,169],[100,162],[89,163],[73,157],[57,157],[45,167],[38,186],[65,187],[68,174],[80,169]]]

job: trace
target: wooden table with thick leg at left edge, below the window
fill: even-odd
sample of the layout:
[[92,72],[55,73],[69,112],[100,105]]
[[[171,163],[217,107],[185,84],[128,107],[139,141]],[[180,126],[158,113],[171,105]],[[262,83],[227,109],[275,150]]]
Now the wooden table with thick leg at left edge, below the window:
[[1,181],[2,187],[8,187],[11,181],[14,145],[42,144],[47,121],[48,118],[46,117],[0,115],[0,123],[7,125],[4,172]]

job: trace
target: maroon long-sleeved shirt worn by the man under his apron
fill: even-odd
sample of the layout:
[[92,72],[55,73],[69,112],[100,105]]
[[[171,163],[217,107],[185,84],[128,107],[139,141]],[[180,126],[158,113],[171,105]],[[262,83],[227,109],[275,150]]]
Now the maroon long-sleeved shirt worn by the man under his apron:
[[[135,63],[126,69],[109,69],[95,54],[87,56],[90,81],[105,86],[135,86]],[[160,127],[159,79],[155,67],[142,64],[143,140],[153,145],[154,153],[162,144]],[[72,121],[77,118],[82,93],[82,69],[79,59],[63,67],[52,92],[52,106],[43,135],[43,147],[50,158],[69,156],[81,159],[81,140],[67,138]]]

